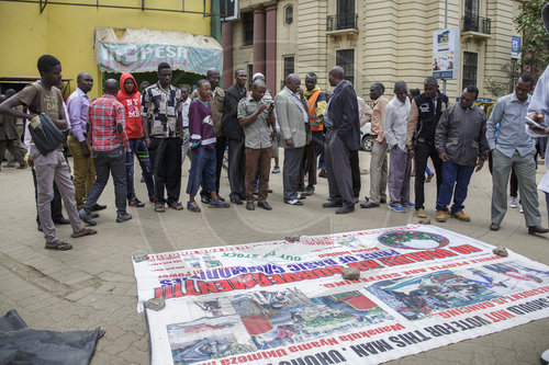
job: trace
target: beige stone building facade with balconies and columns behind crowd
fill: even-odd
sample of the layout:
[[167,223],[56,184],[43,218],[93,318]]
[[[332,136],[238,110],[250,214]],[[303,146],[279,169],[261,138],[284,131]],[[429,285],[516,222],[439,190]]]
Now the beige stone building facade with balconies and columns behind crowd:
[[[318,76],[327,88],[327,72],[344,67],[358,95],[372,82],[391,90],[397,80],[423,89],[433,75],[433,32],[459,28],[458,77],[446,92],[458,98],[464,85],[477,84],[480,96],[492,98],[490,82],[508,82],[502,65],[511,61],[516,0],[240,0],[240,16],[222,24],[224,85],[232,70],[266,75],[279,91],[284,77],[295,72]],[[445,16],[445,13],[447,16]],[[442,82],[440,82],[442,88]],[[390,94],[391,91],[388,91]]]

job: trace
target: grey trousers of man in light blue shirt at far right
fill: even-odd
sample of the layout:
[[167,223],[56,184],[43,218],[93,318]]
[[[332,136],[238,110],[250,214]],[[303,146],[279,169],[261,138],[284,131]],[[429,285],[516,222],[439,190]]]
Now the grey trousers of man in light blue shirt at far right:
[[539,215],[538,191],[536,187],[536,162],[534,155],[536,151],[520,157],[515,151],[513,157],[500,152],[497,149],[492,151],[492,223],[501,224],[507,213],[507,183],[509,181],[511,168],[515,169],[518,181],[518,191],[520,203],[524,208],[524,218],[526,226],[540,226],[541,216]]

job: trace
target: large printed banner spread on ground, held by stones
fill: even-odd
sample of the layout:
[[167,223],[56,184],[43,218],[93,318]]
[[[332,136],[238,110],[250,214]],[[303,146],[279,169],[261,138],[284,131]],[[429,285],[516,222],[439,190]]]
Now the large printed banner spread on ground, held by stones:
[[410,225],[134,259],[152,364],[377,364],[548,317],[549,267],[492,250]]

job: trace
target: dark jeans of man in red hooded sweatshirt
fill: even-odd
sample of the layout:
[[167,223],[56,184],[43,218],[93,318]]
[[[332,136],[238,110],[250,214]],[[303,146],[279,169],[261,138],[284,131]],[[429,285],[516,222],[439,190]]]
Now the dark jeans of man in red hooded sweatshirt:
[[147,185],[148,197],[155,196],[155,182],[153,180],[153,168],[150,167],[150,158],[148,155],[147,146],[145,145],[145,139],[143,138],[131,138],[130,149],[126,151],[126,197],[128,201],[135,198],[134,189],[134,155],[137,156],[139,160],[141,171],[143,179],[145,179],[145,184]]

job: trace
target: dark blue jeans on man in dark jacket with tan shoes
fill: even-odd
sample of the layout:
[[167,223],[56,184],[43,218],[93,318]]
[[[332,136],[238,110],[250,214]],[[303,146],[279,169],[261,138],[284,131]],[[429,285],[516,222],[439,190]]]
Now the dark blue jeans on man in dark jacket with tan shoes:
[[437,198],[437,212],[446,212],[452,193],[453,205],[451,206],[451,213],[463,210],[463,202],[467,197],[467,190],[473,171],[473,166],[457,164],[452,161],[442,162],[442,183]]

